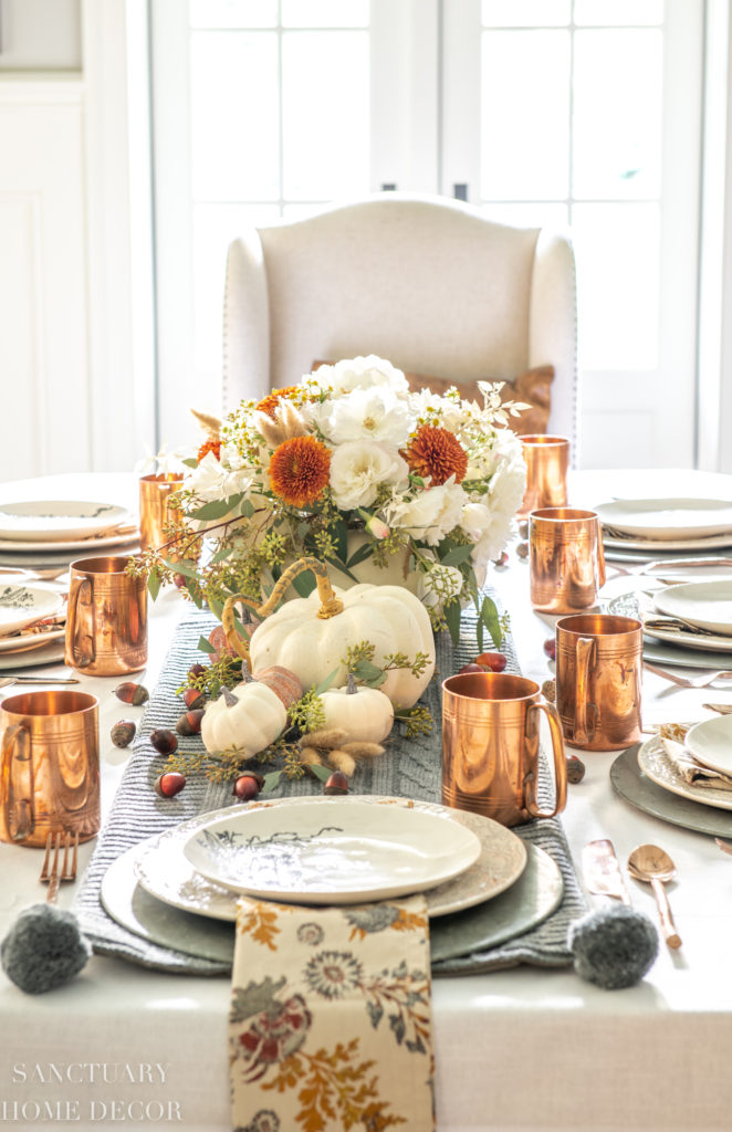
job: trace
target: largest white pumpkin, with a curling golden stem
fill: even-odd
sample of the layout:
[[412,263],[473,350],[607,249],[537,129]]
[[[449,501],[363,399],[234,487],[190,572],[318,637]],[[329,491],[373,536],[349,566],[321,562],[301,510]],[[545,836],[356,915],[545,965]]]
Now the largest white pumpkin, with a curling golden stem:
[[303,687],[322,684],[338,669],[333,687],[343,687],[348,672],[341,663],[349,646],[368,641],[375,646],[374,663],[390,653],[417,652],[429,658],[422,676],[409,669],[392,669],[381,692],[392,704],[411,707],[427,687],[435,669],[435,644],[429,615],[414,593],[399,585],[354,585],[333,590],[342,610],[322,618],[317,591],[308,598],[286,602],[257,625],[249,642],[252,667],[282,664],[295,672]]

